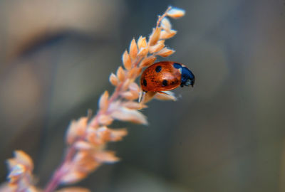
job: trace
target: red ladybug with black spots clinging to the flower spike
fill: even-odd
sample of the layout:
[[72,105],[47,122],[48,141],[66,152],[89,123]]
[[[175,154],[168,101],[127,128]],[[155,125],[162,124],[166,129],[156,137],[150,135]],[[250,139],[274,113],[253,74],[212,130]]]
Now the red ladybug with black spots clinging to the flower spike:
[[144,70],[140,78],[142,91],[162,92],[191,85],[195,76],[185,65],[172,61],[160,61]]

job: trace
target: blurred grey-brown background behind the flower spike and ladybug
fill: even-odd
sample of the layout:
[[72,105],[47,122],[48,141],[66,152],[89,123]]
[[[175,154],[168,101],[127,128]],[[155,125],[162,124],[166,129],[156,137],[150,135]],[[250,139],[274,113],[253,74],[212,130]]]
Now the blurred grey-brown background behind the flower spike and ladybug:
[[[148,36],[167,6],[167,60],[194,88],[153,100],[150,125],[110,144],[122,159],[76,186],[91,191],[285,191],[284,0],[0,1],[0,178],[15,149],[43,187],[61,161],[71,119],[96,111],[130,40]],[[163,60],[160,58],[160,60]]]

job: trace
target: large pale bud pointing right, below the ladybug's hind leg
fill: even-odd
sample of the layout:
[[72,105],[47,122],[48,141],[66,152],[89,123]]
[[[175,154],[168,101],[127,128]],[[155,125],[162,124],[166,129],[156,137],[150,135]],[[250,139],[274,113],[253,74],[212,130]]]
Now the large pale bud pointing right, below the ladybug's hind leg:
[[141,112],[130,110],[127,107],[119,107],[118,110],[111,113],[111,116],[121,121],[147,124],[147,119]]

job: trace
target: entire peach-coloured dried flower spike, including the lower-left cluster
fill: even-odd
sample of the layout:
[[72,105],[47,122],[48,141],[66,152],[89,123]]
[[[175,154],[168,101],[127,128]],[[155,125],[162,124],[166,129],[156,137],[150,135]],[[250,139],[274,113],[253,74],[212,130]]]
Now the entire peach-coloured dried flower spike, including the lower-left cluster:
[[[159,16],[150,37],[140,36],[130,43],[129,50],[122,56],[123,66],[117,72],[111,73],[109,81],[115,86],[111,95],[107,91],[100,96],[98,112],[93,117],[81,117],[72,121],[66,132],[67,149],[61,166],[56,169],[43,190],[33,186],[33,162],[23,151],[16,151],[14,159],[8,160],[10,169],[9,185],[5,191],[55,191],[59,185],[67,185],[81,181],[88,174],[98,169],[101,164],[115,163],[119,158],[113,151],[107,151],[109,142],[118,142],[128,134],[126,129],[110,129],[108,126],[114,120],[147,124],[147,118],[139,110],[146,108],[145,103],[157,98],[160,100],[175,100],[169,93],[149,91],[141,92],[135,80],[142,73],[142,68],[149,67],[157,59],[157,55],[167,57],[174,50],[165,48],[165,39],[175,36],[167,16],[179,18],[184,15],[182,9],[169,7],[162,16]],[[124,68],[125,69],[124,69]],[[145,95],[143,102],[136,102],[140,93]],[[142,97],[140,97],[142,98]],[[90,116],[90,115],[89,115]],[[1,191],[2,188],[0,188]],[[21,190],[19,190],[21,189]],[[87,192],[85,188],[62,188],[60,191]]]

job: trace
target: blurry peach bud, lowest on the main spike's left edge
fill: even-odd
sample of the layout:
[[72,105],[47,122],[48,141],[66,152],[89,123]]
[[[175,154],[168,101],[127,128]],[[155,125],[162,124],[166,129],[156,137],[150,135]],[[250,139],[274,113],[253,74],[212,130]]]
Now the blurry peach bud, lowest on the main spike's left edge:
[[66,142],[72,144],[76,138],[83,136],[86,131],[88,118],[81,117],[78,121],[72,121],[66,132]]

